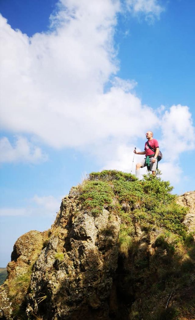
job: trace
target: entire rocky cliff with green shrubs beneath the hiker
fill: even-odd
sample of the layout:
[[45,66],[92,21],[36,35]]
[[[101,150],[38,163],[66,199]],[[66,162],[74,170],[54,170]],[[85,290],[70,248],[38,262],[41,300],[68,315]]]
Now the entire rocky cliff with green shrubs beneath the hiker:
[[159,177],[91,173],[48,231],[14,244],[0,318],[195,319],[195,192],[171,191]]

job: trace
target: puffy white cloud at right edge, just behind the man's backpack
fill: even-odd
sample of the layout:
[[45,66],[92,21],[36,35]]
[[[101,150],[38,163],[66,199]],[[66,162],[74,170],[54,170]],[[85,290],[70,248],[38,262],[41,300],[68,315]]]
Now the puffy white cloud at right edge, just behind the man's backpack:
[[[180,155],[195,148],[195,128],[187,106],[173,105],[169,110],[160,108],[162,139],[160,146],[164,161],[160,162],[162,178],[172,184],[179,183],[182,177]],[[164,114],[162,113],[163,111]]]

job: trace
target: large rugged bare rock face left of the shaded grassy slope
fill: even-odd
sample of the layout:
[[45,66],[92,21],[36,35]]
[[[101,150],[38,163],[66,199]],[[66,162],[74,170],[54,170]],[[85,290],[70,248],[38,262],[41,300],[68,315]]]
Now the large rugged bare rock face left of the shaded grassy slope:
[[83,212],[72,188],[35,264],[28,314],[35,310],[46,319],[107,319],[119,229],[120,219],[107,210],[98,217]]

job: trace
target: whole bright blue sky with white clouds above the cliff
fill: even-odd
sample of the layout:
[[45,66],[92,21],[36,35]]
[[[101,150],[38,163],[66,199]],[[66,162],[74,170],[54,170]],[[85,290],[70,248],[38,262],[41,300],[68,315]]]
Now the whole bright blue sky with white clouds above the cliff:
[[148,130],[162,178],[194,190],[193,1],[1,0],[0,12],[0,267],[87,173],[130,172]]

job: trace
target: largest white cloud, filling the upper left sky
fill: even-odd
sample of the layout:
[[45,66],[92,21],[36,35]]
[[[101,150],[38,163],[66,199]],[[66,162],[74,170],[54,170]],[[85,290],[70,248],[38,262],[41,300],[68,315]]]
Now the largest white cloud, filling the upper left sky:
[[116,77],[104,93],[118,70],[113,36],[119,1],[62,4],[52,18],[55,30],[31,38],[0,18],[2,127],[55,148],[142,135],[141,122],[152,127],[157,118],[129,92],[135,81]]

